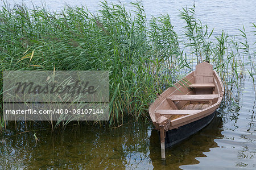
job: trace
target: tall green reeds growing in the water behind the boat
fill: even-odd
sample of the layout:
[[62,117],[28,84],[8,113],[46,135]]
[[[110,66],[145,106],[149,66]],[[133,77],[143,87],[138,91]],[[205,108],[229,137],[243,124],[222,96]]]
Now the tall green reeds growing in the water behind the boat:
[[[141,3],[132,5],[135,10],[129,11],[123,5],[102,2],[97,14],[86,7],[65,6],[61,13],[25,5],[2,7],[1,72],[109,71],[110,126],[130,116],[147,118],[148,106],[157,94],[202,61],[210,61],[220,73],[226,101],[232,100],[232,92],[246,72],[255,77],[255,51],[250,52],[246,44],[245,29],[241,36],[246,43],[236,42],[225,32],[212,37],[213,30],[196,19],[193,6],[180,11],[185,27],[184,34],[177,35],[170,16],[147,19]],[[245,69],[246,64],[250,70]],[[2,100],[2,77],[0,85]]]

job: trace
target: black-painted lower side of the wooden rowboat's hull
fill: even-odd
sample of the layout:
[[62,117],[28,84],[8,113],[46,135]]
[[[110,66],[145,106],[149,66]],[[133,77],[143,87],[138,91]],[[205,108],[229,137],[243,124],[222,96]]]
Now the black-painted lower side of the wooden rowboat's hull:
[[191,122],[187,125],[180,126],[179,128],[174,128],[172,130],[166,131],[165,147],[171,147],[200,131],[212,121],[215,114],[216,111],[214,111],[207,117],[201,118],[195,122]]

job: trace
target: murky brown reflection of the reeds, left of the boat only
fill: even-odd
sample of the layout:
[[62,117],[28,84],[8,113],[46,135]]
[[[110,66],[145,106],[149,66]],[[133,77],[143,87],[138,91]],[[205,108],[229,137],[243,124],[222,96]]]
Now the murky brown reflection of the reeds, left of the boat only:
[[[51,132],[49,127],[36,132],[38,143],[34,131],[5,136],[5,145],[0,144],[0,169],[123,169],[138,165],[152,168],[147,159],[151,128],[144,123],[113,129],[75,125]],[[9,132],[19,133],[15,128]]]

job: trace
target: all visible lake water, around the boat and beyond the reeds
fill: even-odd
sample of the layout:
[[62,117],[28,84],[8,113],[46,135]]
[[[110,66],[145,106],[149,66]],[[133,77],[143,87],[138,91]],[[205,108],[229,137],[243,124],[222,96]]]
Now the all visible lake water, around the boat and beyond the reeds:
[[[30,0],[24,2],[32,7]],[[32,2],[37,6],[42,4],[41,1]],[[8,3],[14,5],[13,1]],[[66,3],[86,5],[93,12],[100,10],[100,1],[45,0],[45,3],[50,10],[60,11]],[[193,5],[193,1],[188,0],[148,0],[142,3],[149,18],[150,15],[170,14],[177,32],[183,26],[179,10]],[[205,0],[195,3],[197,18],[214,28],[215,35],[221,30],[237,35],[240,33],[238,28],[244,25],[249,32],[249,41],[256,41],[251,32],[256,31],[251,27],[251,23],[256,23],[256,1]],[[131,5],[127,5],[129,7]],[[255,57],[253,60],[255,63]],[[249,65],[245,67],[250,69]],[[238,107],[222,102],[209,126],[167,149],[165,162],[160,159],[159,136],[151,122],[127,123],[118,128],[71,125],[55,132],[43,123],[30,125],[27,129],[21,124],[5,131],[5,141],[0,143],[0,169],[256,169],[253,82],[246,74],[238,84],[240,88],[233,90]],[[35,132],[39,139],[37,143]]]

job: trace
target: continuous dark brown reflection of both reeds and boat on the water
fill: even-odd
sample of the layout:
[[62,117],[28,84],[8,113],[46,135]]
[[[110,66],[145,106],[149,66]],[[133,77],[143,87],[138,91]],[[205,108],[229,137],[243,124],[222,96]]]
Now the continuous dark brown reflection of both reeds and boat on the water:
[[203,130],[167,149],[167,162],[162,165],[158,132],[151,130],[151,123],[127,123],[119,128],[74,125],[55,132],[41,126],[39,131],[26,132],[20,123],[16,128],[20,131],[15,127],[9,130],[11,135],[5,136],[6,143],[0,146],[0,169],[178,168],[199,163],[195,158],[218,147],[214,139],[223,137],[222,119],[216,116]]

